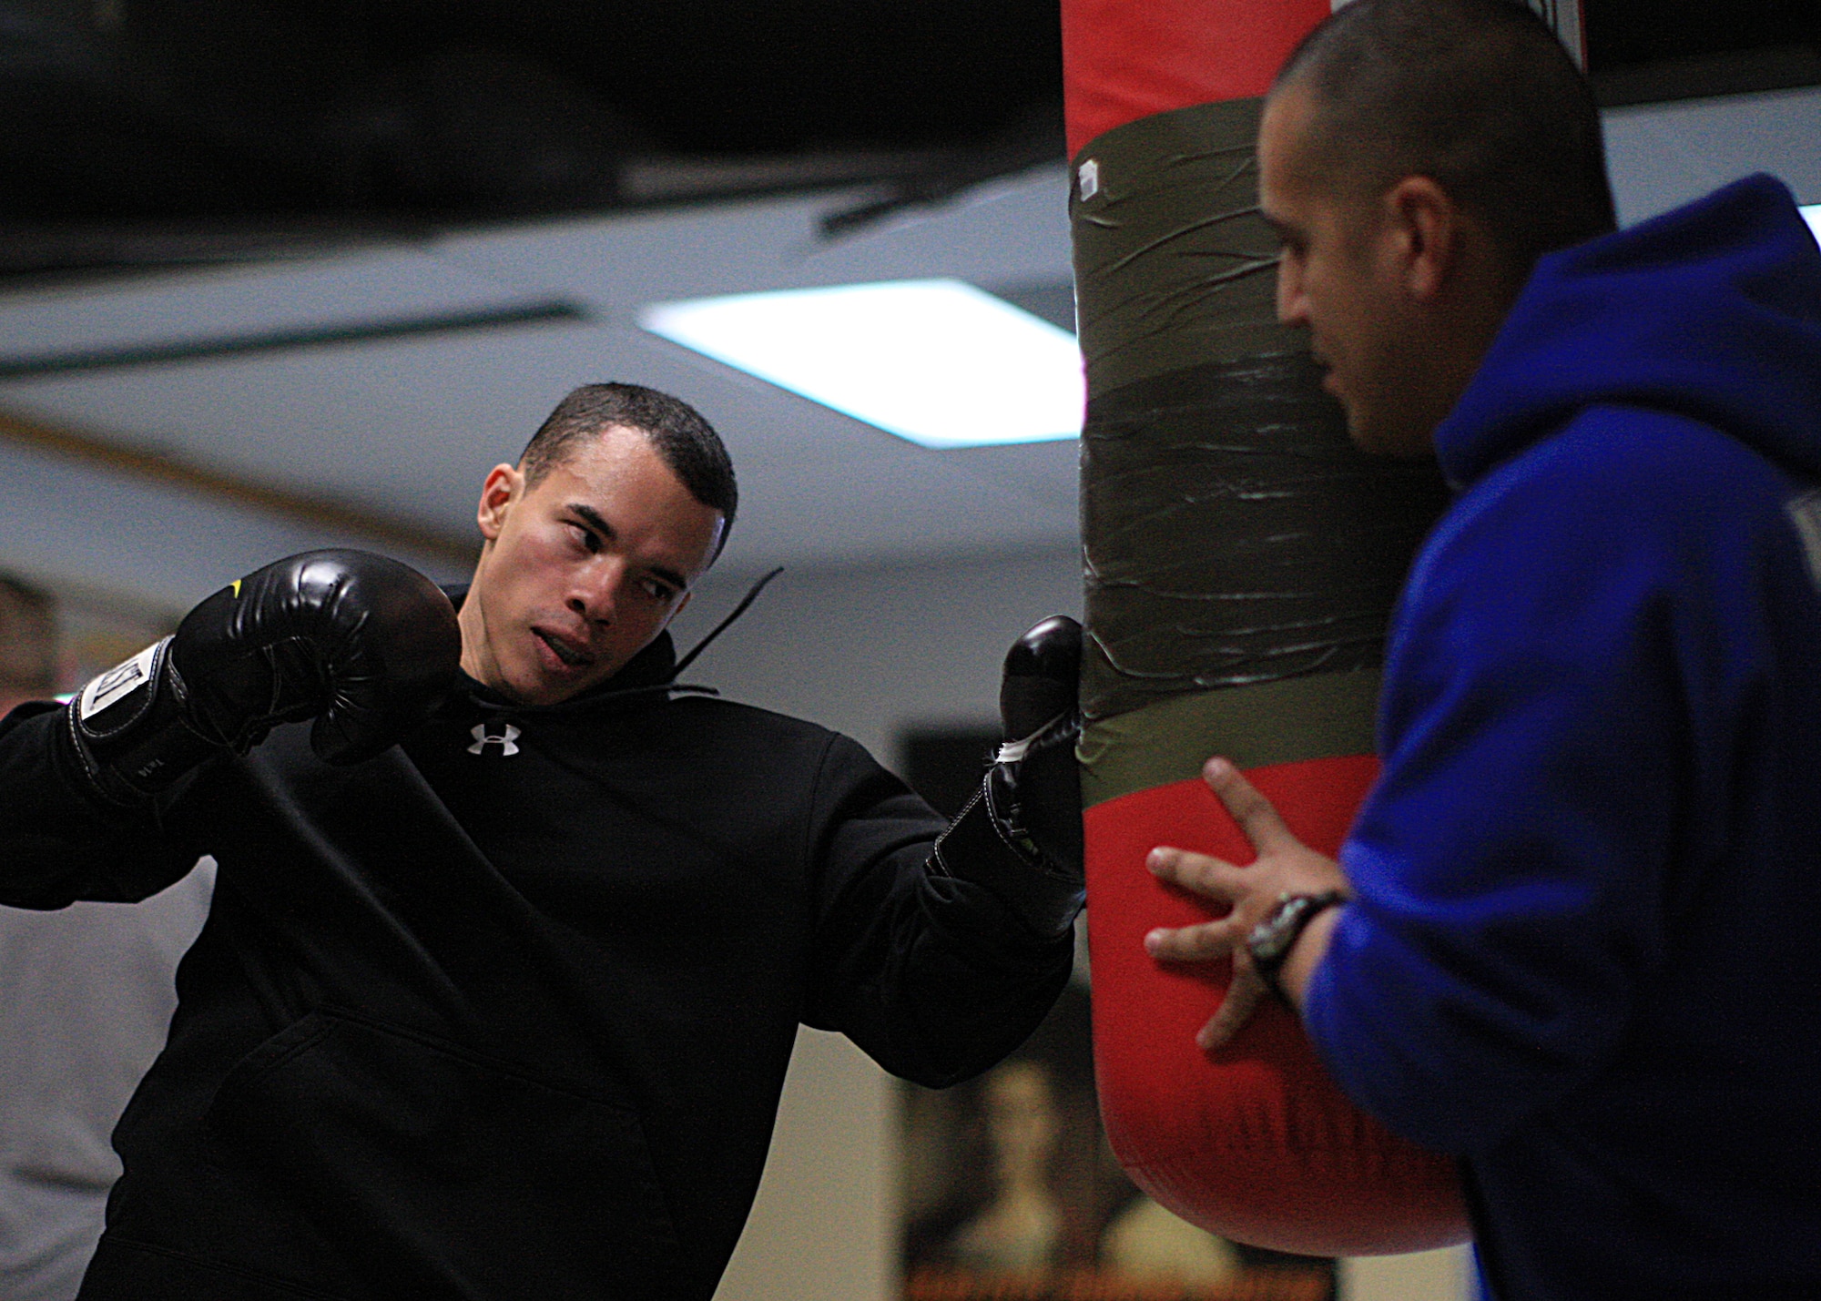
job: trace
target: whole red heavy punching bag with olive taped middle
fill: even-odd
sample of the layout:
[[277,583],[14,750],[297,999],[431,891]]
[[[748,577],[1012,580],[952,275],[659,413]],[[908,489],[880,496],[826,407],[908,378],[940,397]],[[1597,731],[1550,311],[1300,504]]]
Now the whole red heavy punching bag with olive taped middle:
[[1071,219],[1087,364],[1082,530],[1094,1053],[1107,1135],[1156,1201],[1317,1255],[1468,1237],[1453,1163],[1358,1111],[1297,1019],[1195,1031],[1227,964],[1145,955],[1207,917],[1158,884],[1173,844],[1247,862],[1198,778],[1224,754],[1333,855],[1377,773],[1391,603],[1444,503],[1429,463],[1368,457],[1275,321],[1256,213],[1260,97],[1328,0],[1063,0]]

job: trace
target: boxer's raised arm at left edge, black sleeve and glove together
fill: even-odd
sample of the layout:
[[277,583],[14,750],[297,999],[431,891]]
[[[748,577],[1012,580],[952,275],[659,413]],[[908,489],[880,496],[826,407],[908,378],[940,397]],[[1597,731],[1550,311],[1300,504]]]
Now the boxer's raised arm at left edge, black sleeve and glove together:
[[382,556],[306,552],[224,587],[66,707],[5,722],[0,902],[157,893],[206,851],[160,829],[200,767],[304,718],[324,760],[370,758],[428,714],[459,658],[448,599]]

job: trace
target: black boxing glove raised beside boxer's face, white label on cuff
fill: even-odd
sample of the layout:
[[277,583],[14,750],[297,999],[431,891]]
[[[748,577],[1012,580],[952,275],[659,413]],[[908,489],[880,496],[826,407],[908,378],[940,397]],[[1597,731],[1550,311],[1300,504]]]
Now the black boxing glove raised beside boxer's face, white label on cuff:
[[330,763],[371,758],[435,709],[459,665],[435,583],[384,556],[313,550],[224,587],[89,681],[62,734],[104,800],[140,805],[277,723],[315,718],[310,743]]

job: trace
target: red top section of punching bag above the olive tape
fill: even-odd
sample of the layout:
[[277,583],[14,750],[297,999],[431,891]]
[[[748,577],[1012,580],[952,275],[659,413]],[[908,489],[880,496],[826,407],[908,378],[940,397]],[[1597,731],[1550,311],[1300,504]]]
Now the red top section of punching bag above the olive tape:
[[1153,113],[1264,95],[1329,0],[1063,0],[1069,157]]

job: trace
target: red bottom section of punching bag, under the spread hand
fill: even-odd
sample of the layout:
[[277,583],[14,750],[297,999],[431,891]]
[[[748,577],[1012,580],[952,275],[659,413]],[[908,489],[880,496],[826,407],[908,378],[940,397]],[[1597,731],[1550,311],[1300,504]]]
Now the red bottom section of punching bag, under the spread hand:
[[[1377,771],[1368,754],[1247,776],[1304,844],[1335,855]],[[1087,811],[1094,1062],[1107,1137],[1125,1170],[1184,1219],[1258,1246],[1380,1255],[1466,1241],[1453,1161],[1355,1108],[1289,1011],[1267,1002],[1226,1048],[1195,1046],[1231,966],[1164,964],[1144,951],[1151,927],[1213,915],[1145,869],[1156,845],[1253,858],[1202,782]]]

